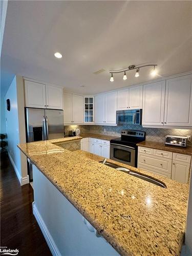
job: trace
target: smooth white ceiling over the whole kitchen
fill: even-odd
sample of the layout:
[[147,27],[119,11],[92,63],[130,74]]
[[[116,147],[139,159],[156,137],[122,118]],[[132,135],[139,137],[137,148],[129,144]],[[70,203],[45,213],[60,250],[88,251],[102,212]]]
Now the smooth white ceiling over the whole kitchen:
[[[158,64],[159,77],[192,70],[191,1],[9,1],[2,74],[19,74],[82,94],[148,81],[151,68],[114,74],[129,65]],[[56,59],[55,52],[63,57]],[[105,72],[95,75],[95,71]],[[84,88],[81,88],[83,85]]]

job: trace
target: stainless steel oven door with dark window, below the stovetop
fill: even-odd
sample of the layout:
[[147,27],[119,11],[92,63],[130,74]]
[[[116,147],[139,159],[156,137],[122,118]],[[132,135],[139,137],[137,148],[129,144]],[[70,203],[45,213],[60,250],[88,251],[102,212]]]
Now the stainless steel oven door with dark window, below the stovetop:
[[135,148],[131,146],[111,143],[110,159],[135,166]]

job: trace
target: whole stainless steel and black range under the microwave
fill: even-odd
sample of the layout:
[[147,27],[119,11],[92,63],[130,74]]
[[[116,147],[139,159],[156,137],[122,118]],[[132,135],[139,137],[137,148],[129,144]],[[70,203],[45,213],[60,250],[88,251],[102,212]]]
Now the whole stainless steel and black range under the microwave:
[[145,132],[122,130],[121,137],[110,141],[110,159],[137,167],[137,143],[145,140]]

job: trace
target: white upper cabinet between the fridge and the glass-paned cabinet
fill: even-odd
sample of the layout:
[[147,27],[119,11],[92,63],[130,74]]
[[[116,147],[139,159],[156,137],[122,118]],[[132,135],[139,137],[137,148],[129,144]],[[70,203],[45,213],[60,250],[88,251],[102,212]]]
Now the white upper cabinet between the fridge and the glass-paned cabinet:
[[83,123],[83,96],[64,93],[64,124]]

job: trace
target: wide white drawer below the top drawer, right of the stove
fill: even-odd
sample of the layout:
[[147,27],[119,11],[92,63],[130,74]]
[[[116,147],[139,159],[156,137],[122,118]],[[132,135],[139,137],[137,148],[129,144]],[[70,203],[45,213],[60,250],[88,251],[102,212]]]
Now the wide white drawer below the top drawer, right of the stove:
[[154,169],[155,172],[172,173],[172,160],[171,159],[163,159],[160,157],[151,157],[147,155],[138,155],[138,163],[147,167]]

